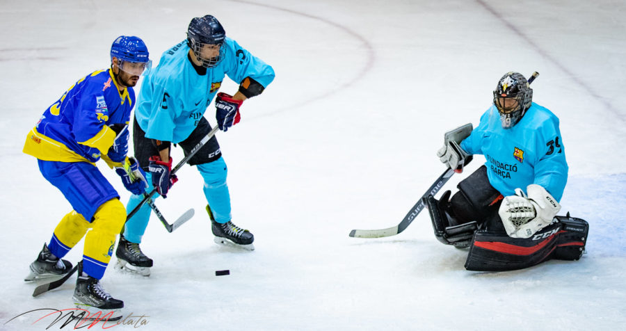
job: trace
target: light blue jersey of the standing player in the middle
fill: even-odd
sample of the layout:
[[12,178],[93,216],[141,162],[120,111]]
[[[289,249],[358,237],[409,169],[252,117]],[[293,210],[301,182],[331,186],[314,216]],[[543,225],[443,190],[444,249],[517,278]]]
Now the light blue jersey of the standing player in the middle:
[[236,83],[246,77],[264,88],[274,79],[274,70],[261,59],[226,38],[225,56],[206,74],[200,75],[188,59],[186,40],[164,52],[159,66],[145,77],[139,92],[135,118],[145,136],[180,143],[198,125],[227,75]]

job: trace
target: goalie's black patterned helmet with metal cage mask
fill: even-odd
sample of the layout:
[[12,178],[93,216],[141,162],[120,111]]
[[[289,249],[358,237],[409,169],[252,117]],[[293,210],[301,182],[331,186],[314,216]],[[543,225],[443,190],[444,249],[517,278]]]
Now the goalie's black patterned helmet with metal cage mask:
[[519,72],[504,74],[493,91],[493,104],[498,108],[504,129],[520,122],[532,102],[533,89]]

